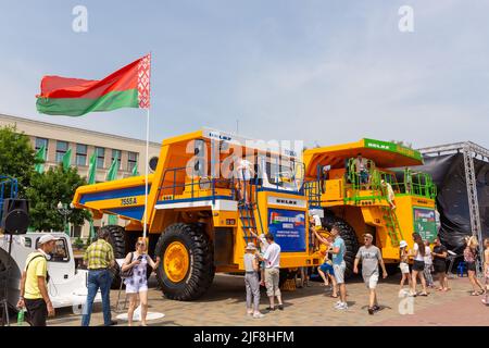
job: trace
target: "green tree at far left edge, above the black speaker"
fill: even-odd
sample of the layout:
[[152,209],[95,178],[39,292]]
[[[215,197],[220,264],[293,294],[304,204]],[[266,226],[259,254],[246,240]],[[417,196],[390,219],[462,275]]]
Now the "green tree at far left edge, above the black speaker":
[[0,128],[0,174],[17,179],[20,197],[25,196],[34,166],[39,163],[28,136],[17,133],[14,125]]

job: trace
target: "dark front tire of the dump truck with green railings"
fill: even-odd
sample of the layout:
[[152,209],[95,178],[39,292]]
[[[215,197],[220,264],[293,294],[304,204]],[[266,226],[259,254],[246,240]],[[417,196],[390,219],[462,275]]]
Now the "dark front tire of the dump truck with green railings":
[[325,216],[321,220],[321,223],[329,231],[334,225],[338,226],[340,236],[344,240],[344,246],[347,247],[347,252],[344,253],[344,263],[347,264],[344,277],[349,278],[353,275],[353,263],[355,261],[356,251],[359,250],[359,240],[356,239],[355,231],[343,219],[335,216],[330,213],[325,213]]

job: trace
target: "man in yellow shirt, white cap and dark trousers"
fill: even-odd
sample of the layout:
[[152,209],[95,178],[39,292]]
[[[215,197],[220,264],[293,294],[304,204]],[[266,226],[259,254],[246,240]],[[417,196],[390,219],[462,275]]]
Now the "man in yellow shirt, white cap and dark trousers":
[[55,247],[53,235],[46,234],[37,241],[39,248],[25,261],[21,278],[21,298],[17,308],[26,308],[33,326],[46,326],[46,319],[54,315],[54,308],[48,294],[48,260]]

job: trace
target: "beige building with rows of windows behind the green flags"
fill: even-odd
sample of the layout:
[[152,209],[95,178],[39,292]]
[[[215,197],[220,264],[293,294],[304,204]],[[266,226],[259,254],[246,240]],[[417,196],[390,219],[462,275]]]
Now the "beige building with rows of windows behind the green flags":
[[[63,156],[71,149],[72,166],[76,166],[78,174],[83,177],[88,176],[89,160],[93,153],[97,153],[96,181],[98,183],[105,181],[114,159],[118,162],[117,178],[131,176],[135,166],[139,175],[145,174],[145,140],[0,114],[0,126],[7,125],[15,125],[17,132],[27,135],[36,151],[42,146],[46,147],[45,171],[59,165]],[[150,142],[149,159],[158,158],[160,147],[159,142]],[[106,223],[106,215],[102,219],[102,225]],[[120,223],[124,222],[120,220]],[[70,226],[70,229],[72,237],[85,238],[89,235],[88,223],[84,226]]]

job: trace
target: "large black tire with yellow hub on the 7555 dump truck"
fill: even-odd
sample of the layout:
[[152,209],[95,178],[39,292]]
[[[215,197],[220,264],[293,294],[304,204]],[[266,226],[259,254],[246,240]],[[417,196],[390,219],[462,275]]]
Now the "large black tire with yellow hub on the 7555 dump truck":
[[166,298],[190,301],[209,289],[215,273],[214,256],[212,243],[201,227],[170,225],[161,234],[155,251],[161,258],[156,279]]

